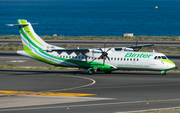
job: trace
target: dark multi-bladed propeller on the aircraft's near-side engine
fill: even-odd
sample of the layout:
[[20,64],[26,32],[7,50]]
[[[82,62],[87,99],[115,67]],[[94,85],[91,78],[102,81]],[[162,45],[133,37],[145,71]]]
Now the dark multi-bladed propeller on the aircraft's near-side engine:
[[101,48],[100,45],[99,45],[99,50],[101,50],[102,55],[101,55],[98,59],[103,59],[103,67],[104,67],[106,58],[109,60],[109,62],[111,62],[111,61],[110,61],[110,58],[108,57],[108,51],[111,50],[112,48],[109,48],[107,51],[105,51],[106,42],[107,42],[107,40],[106,40],[105,43],[104,43],[104,51],[102,50],[102,48]]

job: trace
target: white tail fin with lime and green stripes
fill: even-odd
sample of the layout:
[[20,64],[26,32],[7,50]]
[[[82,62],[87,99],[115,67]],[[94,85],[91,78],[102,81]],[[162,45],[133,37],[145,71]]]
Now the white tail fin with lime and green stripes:
[[27,20],[24,19],[19,19],[17,20],[17,23],[17,26],[19,26],[19,32],[21,35],[24,50],[43,50],[50,46],[34,32],[30,22],[27,22]]

